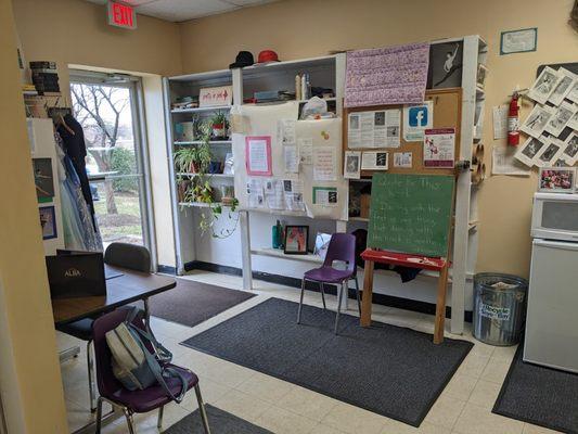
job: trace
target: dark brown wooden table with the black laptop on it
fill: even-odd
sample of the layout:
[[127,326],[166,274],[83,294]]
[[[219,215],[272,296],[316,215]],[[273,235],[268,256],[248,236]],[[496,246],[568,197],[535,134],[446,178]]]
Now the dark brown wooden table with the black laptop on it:
[[175,279],[165,276],[112,266],[106,266],[106,268],[123,273],[123,276],[106,280],[106,296],[53,298],[54,323],[60,326],[74,322],[93,315],[112,311],[139,299],[145,302],[145,310],[149,310],[146,303],[149,297],[171,290],[177,285]]

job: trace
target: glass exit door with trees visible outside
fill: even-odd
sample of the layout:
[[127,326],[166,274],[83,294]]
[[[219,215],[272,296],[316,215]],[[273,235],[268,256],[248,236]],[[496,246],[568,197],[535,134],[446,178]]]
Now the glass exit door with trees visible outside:
[[87,171],[104,247],[124,242],[153,252],[139,79],[75,71],[70,93],[74,116],[85,131]]

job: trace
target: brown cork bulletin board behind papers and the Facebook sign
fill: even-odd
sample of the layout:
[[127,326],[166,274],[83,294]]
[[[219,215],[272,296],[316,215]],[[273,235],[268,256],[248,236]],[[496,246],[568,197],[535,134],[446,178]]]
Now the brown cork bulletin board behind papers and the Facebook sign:
[[[434,129],[454,129],[454,152],[453,161],[460,159],[460,132],[461,132],[461,118],[462,118],[462,89],[461,88],[448,88],[448,89],[435,89],[427,90],[425,92],[425,101],[431,101],[433,105],[433,123]],[[388,148],[350,148],[349,146],[349,115],[351,113],[359,112],[376,112],[376,111],[400,111],[400,130],[399,133],[399,146]],[[386,171],[390,174],[422,174],[422,175],[454,175],[453,167],[445,168],[432,168],[424,166],[424,143],[421,141],[406,141],[404,137],[404,113],[403,105],[376,105],[364,107],[344,108],[344,123],[343,123],[343,141],[344,141],[344,162],[345,153],[347,151],[363,152],[386,152],[387,153],[387,168],[384,170],[363,170],[361,169],[361,178],[371,177],[374,173]],[[411,153],[411,166],[410,167],[395,167],[394,154],[395,153]]]

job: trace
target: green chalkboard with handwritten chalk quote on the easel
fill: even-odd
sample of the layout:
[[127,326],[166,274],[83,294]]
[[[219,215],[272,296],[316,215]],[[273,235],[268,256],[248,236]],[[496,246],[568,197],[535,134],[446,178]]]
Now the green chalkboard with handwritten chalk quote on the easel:
[[368,247],[448,256],[452,176],[375,174]]

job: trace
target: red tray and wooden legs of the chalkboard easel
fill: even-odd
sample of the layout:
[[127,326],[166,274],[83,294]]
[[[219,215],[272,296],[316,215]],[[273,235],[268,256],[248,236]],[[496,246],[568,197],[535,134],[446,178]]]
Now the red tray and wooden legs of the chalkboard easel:
[[365,260],[365,268],[363,271],[363,296],[361,298],[361,327],[371,326],[373,270],[375,263],[439,271],[434,343],[440,344],[441,342],[444,342],[444,324],[446,321],[446,293],[448,288],[448,260],[446,260],[445,258],[423,257],[419,255],[375,251],[371,248],[365,250],[361,254],[361,257]]

